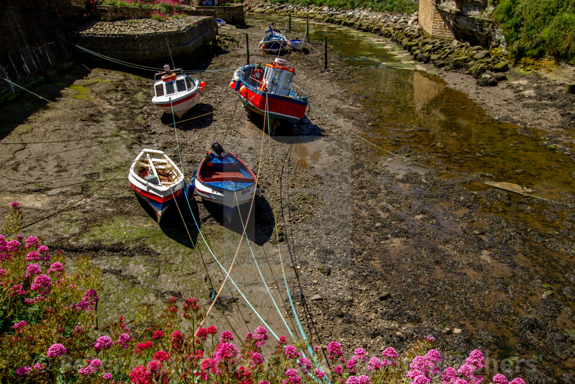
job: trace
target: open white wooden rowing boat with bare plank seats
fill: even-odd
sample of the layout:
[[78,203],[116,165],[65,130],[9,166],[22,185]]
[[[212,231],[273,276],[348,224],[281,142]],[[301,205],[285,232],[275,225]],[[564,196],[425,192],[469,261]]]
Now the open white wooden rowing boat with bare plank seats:
[[183,173],[162,151],[144,149],[137,155],[128,174],[130,187],[147,201],[158,216],[158,223],[164,211],[184,188]]

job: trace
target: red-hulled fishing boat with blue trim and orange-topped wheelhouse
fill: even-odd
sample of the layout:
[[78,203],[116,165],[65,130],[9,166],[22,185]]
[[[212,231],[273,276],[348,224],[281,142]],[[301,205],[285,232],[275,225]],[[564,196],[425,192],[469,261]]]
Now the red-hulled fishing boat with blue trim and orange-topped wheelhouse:
[[[256,58],[257,59],[257,58]],[[299,70],[298,70],[299,71]],[[234,74],[229,88],[239,93],[247,109],[274,119],[299,120],[308,107],[308,94],[294,83],[296,69],[286,60],[276,58],[263,67],[260,63],[241,66]]]

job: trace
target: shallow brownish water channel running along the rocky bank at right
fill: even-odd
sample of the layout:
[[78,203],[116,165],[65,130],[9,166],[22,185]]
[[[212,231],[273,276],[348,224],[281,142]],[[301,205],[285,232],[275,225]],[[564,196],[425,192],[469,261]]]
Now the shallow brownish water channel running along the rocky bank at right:
[[[274,16],[273,21],[283,29],[287,18]],[[477,174],[497,185],[516,184],[503,187],[531,196],[566,202],[566,194],[575,194],[572,158],[547,149],[545,132],[493,119],[442,78],[416,70],[419,63],[405,59],[403,51],[390,50],[389,40],[337,25],[309,26],[310,40],[324,41],[327,36],[329,51],[342,57],[347,70],[355,71],[356,82],[341,85],[356,94],[365,112],[373,116],[363,134],[366,139],[438,170],[465,177]],[[286,33],[288,39],[303,39],[305,22],[292,20],[292,31]],[[469,188],[488,187],[470,183]],[[565,218],[559,213],[556,223],[542,223],[517,211],[517,201],[524,196],[510,193],[509,197],[511,204],[498,207],[497,214],[523,229],[549,232]]]

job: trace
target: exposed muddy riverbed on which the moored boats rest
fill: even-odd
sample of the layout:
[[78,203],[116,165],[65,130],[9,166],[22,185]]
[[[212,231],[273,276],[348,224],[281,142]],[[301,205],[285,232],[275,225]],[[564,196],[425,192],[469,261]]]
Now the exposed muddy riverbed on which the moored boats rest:
[[[246,30],[221,28],[223,52],[186,69],[244,63],[244,33],[256,47],[263,30],[262,22],[248,24]],[[293,63],[296,56],[287,59]],[[340,84],[355,81],[341,60],[330,54],[324,70],[323,41],[312,41],[298,59],[298,67],[309,71],[309,100],[352,132],[377,138],[381,132],[370,131],[377,121],[366,101]],[[297,334],[287,310],[283,262],[313,343],[339,341],[374,354],[431,334],[456,357],[474,348],[489,353],[492,372],[522,375],[530,383],[574,382],[573,191],[557,193],[556,200],[568,204],[562,205],[474,183],[489,181],[484,175],[458,178],[421,168],[374,150],[313,108],[301,123],[270,138],[229,89],[231,71],[198,75],[207,83],[206,96],[174,129],[172,117],[150,105],[152,75],[81,63],[34,91],[51,102],[29,95],[0,109],[2,142],[14,143],[2,145],[0,153],[5,191],[0,201],[6,206],[19,200],[30,223],[80,200],[24,234],[41,235],[51,249],[63,249],[71,258],[93,257],[104,271],[102,321],[129,318],[140,302],[160,304],[171,296],[197,296],[208,305],[210,289],[219,288],[223,273],[195,229],[190,208],[224,267],[240,239],[238,218],[229,223],[197,196],[190,207],[177,200],[191,240],[177,207],[158,225],[127,181],[127,166],[137,153],[150,147],[179,159],[178,140],[189,177],[217,140],[256,170],[263,138],[263,197],[256,198],[248,224],[254,256],[244,241],[231,273],[254,308],[228,283],[211,318],[218,328],[241,337],[261,324],[255,309],[278,335],[289,336],[284,320]],[[446,75],[456,87],[458,80],[450,76],[457,74]],[[559,85],[555,88],[558,92]],[[523,91],[508,86],[511,96],[500,97],[512,100]],[[526,116],[523,109],[512,115],[510,105],[506,115]],[[553,113],[561,116],[559,111]],[[551,161],[571,164],[565,152],[573,128],[555,127],[553,113],[545,115],[548,126],[536,128],[565,146],[562,153],[549,151]],[[396,128],[397,136],[401,127]],[[417,127],[403,128],[407,134]],[[405,154],[401,145],[390,149]],[[424,150],[416,160],[432,165],[441,157]],[[574,175],[575,168],[573,181]]]

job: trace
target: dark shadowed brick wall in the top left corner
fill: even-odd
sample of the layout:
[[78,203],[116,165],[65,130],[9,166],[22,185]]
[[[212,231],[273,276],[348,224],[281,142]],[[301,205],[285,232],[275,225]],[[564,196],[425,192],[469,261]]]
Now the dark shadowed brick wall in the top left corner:
[[[72,60],[53,0],[2,0],[0,76],[24,83]],[[12,86],[0,79],[0,92]]]

